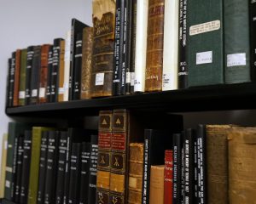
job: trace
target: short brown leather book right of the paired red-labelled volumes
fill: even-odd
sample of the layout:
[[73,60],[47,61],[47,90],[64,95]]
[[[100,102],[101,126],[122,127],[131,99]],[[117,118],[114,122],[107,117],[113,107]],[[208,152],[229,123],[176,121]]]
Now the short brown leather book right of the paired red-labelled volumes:
[[140,204],[143,194],[143,143],[130,144],[128,203]]

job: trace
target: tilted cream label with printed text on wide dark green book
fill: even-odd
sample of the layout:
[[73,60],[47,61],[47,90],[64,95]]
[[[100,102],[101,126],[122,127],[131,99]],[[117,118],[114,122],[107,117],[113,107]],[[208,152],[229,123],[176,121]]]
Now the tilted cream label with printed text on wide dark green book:
[[220,29],[220,20],[213,20],[207,23],[190,26],[189,35],[195,36],[208,31],[217,31]]

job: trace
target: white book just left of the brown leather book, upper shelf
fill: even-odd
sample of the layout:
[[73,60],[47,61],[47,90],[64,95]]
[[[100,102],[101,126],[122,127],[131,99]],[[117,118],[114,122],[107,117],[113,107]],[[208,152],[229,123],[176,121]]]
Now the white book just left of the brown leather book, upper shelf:
[[134,91],[144,92],[148,32],[148,0],[137,1]]

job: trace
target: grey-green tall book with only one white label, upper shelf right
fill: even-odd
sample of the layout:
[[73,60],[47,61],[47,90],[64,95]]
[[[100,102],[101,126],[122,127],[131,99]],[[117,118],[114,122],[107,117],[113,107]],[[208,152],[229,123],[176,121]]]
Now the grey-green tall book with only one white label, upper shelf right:
[[224,68],[226,83],[251,81],[249,39],[249,1],[224,1]]

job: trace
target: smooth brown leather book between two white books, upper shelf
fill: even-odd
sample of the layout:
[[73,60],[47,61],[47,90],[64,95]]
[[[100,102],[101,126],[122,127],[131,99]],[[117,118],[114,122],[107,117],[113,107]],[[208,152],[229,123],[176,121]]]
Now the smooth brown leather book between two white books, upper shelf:
[[164,0],[148,1],[148,38],[145,91],[162,90],[164,46]]

